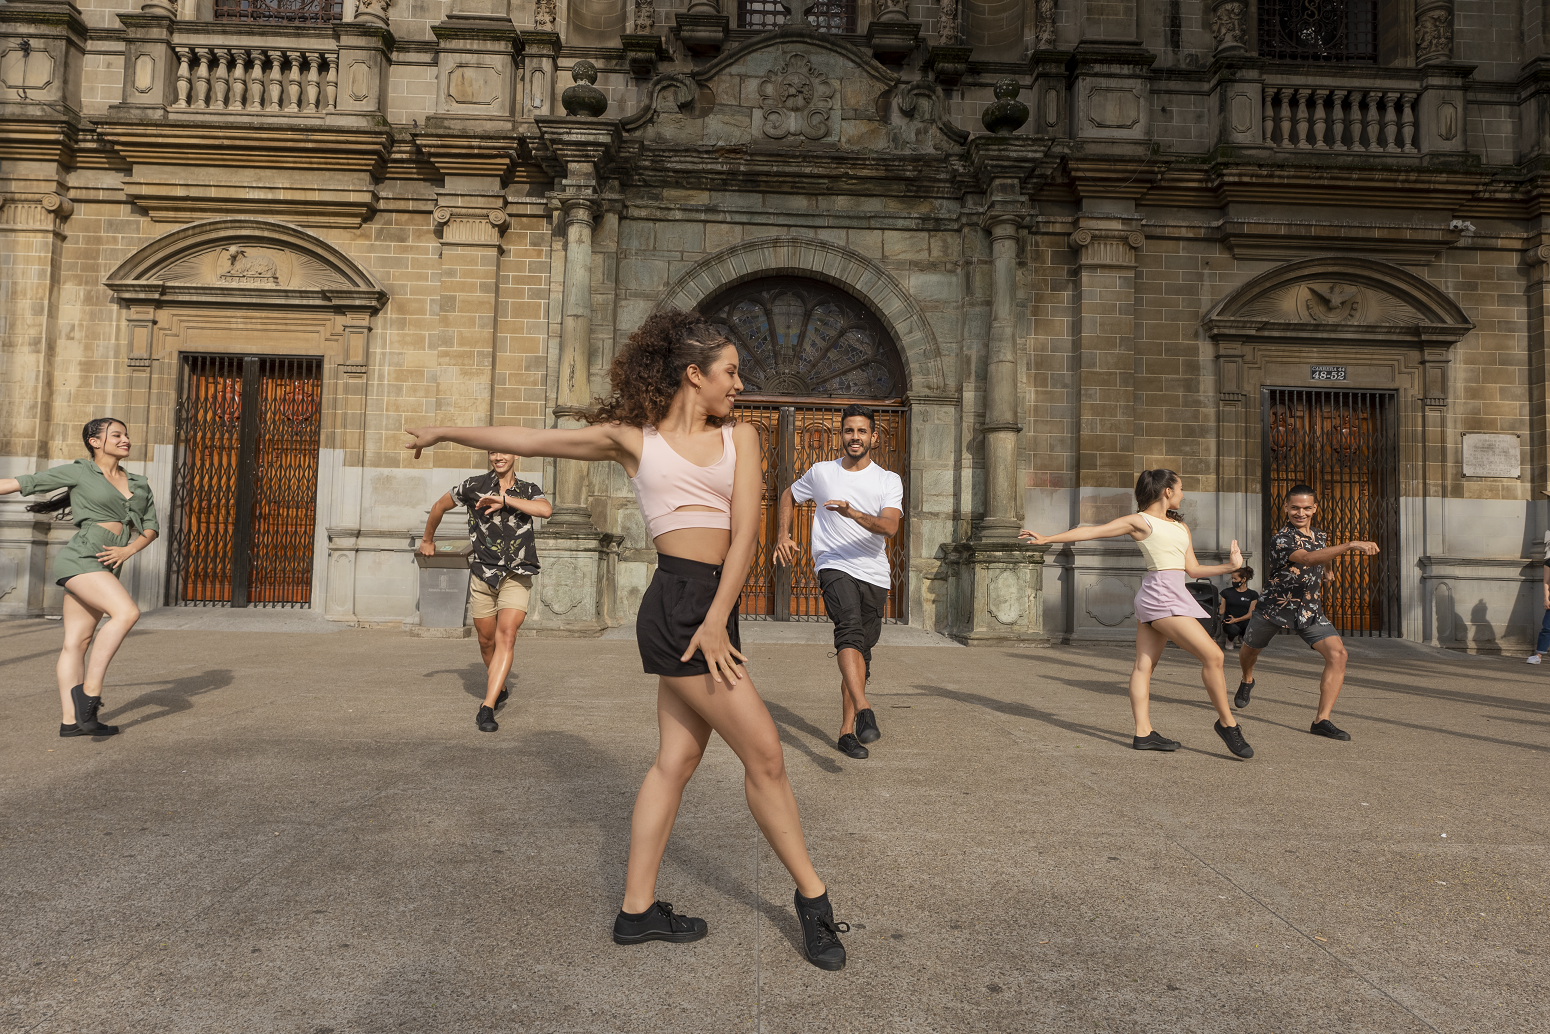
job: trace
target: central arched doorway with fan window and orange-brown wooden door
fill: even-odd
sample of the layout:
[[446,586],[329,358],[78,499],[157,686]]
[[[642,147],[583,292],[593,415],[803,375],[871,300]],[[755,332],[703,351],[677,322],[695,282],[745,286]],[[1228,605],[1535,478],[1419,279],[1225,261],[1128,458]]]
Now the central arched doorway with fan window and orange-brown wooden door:
[[[741,355],[744,395],[739,420],[760,429],[764,507],[760,543],[742,591],[744,617],[818,620],[823,594],[812,569],[814,504],[797,507],[792,536],[803,547],[792,567],[773,563],[775,508],[781,493],[814,464],[840,456],[840,412],[860,402],[877,417],[873,460],[904,479],[908,408],[905,377],[893,336],[866,305],[822,281],[778,276],[727,288],[705,304]],[[887,619],[908,620],[908,513],[888,539]]]

